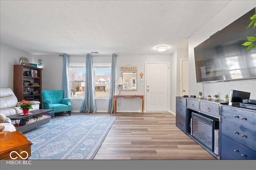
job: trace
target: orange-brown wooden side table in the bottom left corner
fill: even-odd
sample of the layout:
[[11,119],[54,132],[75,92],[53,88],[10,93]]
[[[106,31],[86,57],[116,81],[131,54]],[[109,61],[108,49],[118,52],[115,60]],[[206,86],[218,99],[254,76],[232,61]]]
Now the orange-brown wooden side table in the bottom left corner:
[[[20,131],[7,132],[0,135],[0,159],[2,160],[23,160],[31,156],[31,142]],[[12,152],[14,151],[14,152]],[[11,157],[10,158],[10,153]],[[18,154],[20,155],[18,155]],[[22,158],[23,159],[22,159]]]

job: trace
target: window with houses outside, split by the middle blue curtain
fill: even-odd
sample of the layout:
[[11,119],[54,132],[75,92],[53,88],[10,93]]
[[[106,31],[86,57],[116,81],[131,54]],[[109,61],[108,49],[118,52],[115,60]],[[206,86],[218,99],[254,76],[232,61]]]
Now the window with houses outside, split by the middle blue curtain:
[[[94,65],[95,98],[108,98],[110,92],[111,65]],[[70,65],[71,98],[83,98],[85,86],[85,65]]]

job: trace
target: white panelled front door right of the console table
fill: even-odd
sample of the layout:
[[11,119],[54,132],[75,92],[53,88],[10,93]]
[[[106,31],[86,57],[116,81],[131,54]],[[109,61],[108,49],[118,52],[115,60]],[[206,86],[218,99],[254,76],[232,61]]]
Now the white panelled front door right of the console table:
[[169,63],[146,63],[146,111],[168,111]]

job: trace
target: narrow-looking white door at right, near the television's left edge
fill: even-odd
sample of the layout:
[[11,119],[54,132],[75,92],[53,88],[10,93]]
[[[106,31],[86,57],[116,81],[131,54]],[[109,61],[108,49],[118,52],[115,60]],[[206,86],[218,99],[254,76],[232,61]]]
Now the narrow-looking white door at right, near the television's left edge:
[[180,59],[180,96],[188,95],[188,59]]

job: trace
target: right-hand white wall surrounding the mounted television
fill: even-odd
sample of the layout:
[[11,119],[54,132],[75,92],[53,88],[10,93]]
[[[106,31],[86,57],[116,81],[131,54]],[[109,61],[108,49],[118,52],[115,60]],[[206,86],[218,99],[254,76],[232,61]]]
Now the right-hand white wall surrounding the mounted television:
[[[246,14],[256,6],[256,1],[231,1],[225,8],[223,8],[216,16],[208,21],[199,31],[197,31],[189,39],[188,47],[188,62],[189,62],[189,95],[198,96],[198,92],[202,91],[204,97],[209,94],[220,95],[220,100],[224,99],[225,94],[230,94],[230,90],[240,90],[250,92],[250,99],[256,99],[256,79],[250,80],[235,80],[225,82],[209,82],[209,83],[196,83],[196,70],[194,61],[194,47],[205,41],[210,35],[216,33],[218,30],[223,29],[233,21]],[[204,86],[204,89],[203,89]]]

